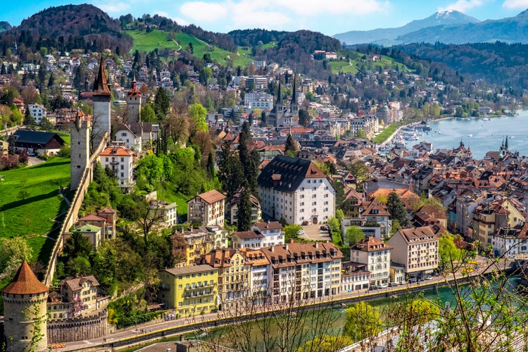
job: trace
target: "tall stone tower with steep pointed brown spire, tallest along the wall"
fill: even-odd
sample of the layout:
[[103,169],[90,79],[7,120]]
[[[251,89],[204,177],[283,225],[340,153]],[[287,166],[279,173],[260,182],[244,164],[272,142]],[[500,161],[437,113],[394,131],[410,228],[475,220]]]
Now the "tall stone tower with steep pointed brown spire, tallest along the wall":
[[92,129],[92,150],[95,150],[101,141],[105,132],[110,134],[110,99],[111,93],[108,88],[108,78],[104,70],[104,60],[101,56],[99,63],[99,73],[95,77],[94,90],[94,120]]

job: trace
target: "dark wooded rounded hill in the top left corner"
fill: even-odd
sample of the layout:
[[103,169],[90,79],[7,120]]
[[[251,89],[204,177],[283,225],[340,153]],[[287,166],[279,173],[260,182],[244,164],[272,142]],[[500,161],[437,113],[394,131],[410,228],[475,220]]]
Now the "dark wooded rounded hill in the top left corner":
[[42,46],[61,51],[110,48],[117,54],[125,54],[132,48],[132,38],[121,32],[120,22],[88,4],[46,8],[0,33],[2,51],[12,48],[15,42],[21,56]]

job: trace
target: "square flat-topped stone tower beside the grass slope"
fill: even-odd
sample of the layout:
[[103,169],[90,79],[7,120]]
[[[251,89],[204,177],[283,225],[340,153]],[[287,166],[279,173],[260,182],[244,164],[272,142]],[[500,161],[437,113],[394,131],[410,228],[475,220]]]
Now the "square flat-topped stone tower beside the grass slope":
[[70,190],[77,189],[82,174],[90,161],[90,132],[92,122],[84,118],[82,111],[77,112],[75,121],[70,121]]

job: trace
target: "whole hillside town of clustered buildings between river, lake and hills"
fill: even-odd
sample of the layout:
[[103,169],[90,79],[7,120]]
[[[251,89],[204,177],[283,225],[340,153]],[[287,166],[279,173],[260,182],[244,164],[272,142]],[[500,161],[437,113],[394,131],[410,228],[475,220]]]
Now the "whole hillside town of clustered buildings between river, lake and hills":
[[[313,58],[338,60],[325,50]],[[379,60],[379,55],[365,56],[365,61]],[[21,319],[13,312],[32,302],[24,295],[45,296],[40,309],[49,313],[35,351],[105,337],[115,329],[108,322],[108,304],[122,292],[113,283],[82,271],[54,276],[63,260],[59,253],[75,258],[80,243],[87,245],[89,257],[119,237],[132,234],[148,246],[156,241],[150,236],[166,234],[169,260],[156,263],[155,275],[136,284],[146,287],[149,309],[190,318],[237,310],[249,300],[302,302],[424,279],[443,269],[442,241],[460,247],[477,243],[494,256],[528,254],[527,159],[510,151],[508,137],[501,146],[490,146],[496,150],[482,160],[474,160],[462,141],[453,149],[434,149],[427,141],[412,149],[389,148],[375,137],[411,120],[407,102],[398,96],[360,101],[353,94],[331,94],[335,87],[328,80],[265,61],[253,61],[240,72],[216,63],[198,72],[185,62],[156,70],[108,52],[46,54],[40,64],[15,51],[4,57],[0,91],[18,113],[2,115],[8,136],[3,153],[6,158],[56,156],[68,147],[58,133],[69,134],[69,189],[77,189],[74,204],[81,197],[51,256],[44,281],[55,279],[52,287],[39,282],[24,261],[2,291],[5,332],[13,337],[10,351],[31,341],[30,325],[10,323]],[[8,94],[18,92],[23,80],[38,84],[39,75],[48,78],[42,88],[56,102],[54,108],[25,88]],[[51,77],[61,83],[49,84]],[[81,81],[80,89],[74,87]],[[457,110],[468,114],[467,109],[478,115],[482,108],[494,113],[469,99],[441,103],[446,84],[415,72],[369,71],[361,81],[410,89],[425,99],[429,117]],[[184,101],[182,92],[206,96],[209,106],[201,98]],[[229,99],[232,106],[220,103]],[[501,99],[504,105],[512,102],[509,96]],[[205,142],[193,149],[200,144],[197,136]],[[189,161],[207,170],[208,178],[187,189],[186,209],[153,186],[156,177],[163,179],[149,173],[158,159],[168,159],[171,168]],[[232,177],[237,172],[239,179]],[[147,205],[144,218],[123,220],[125,208],[113,208],[110,198],[99,207],[81,208],[82,197],[93,201],[90,180],[96,183],[105,173],[138,209]],[[325,239],[310,238],[303,230],[308,227]],[[354,237],[357,231],[360,236]]]

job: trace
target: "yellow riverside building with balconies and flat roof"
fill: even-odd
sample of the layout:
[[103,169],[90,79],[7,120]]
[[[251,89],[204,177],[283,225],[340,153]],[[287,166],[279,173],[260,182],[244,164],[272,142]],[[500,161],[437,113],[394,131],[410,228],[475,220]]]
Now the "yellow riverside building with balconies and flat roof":
[[210,313],[216,308],[218,269],[210,265],[169,268],[159,272],[158,301],[180,317]]

